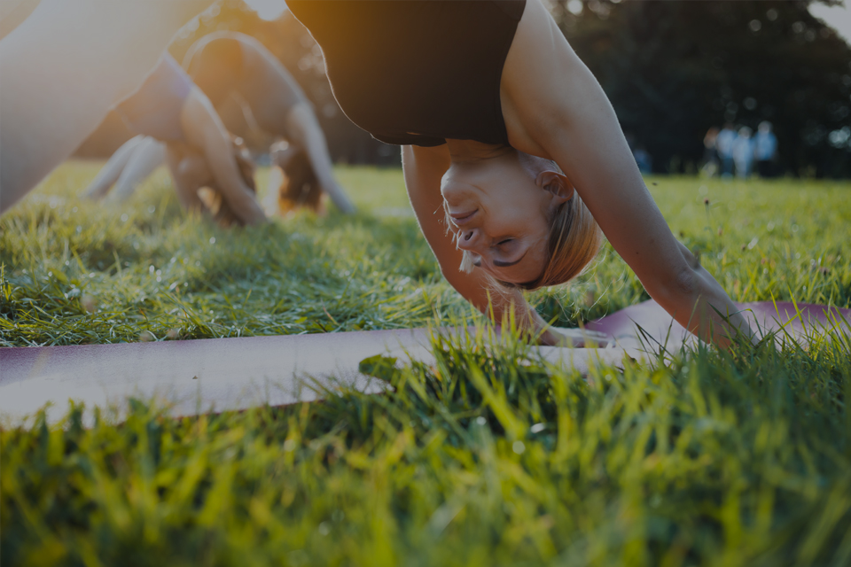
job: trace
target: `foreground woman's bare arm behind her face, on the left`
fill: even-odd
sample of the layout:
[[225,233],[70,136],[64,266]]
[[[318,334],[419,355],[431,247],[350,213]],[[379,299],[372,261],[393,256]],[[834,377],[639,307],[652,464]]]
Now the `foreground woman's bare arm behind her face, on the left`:
[[[417,215],[419,228],[422,229],[428,245],[441,265],[441,272],[458,293],[470,301],[473,306],[486,315],[488,300],[493,307],[493,318],[501,322],[506,310],[515,309],[517,321],[521,327],[540,331],[547,325],[529,306],[519,291],[506,293],[488,293],[490,281],[480,270],[473,268],[472,273],[461,272],[461,251],[452,241],[452,234],[444,223],[443,198],[441,197],[441,177],[449,168],[449,151],[445,145],[434,148],[417,146],[402,147],[402,167],[404,168],[405,187],[408,190],[410,205]],[[546,345],[558,344],[559,336],[551,330],[543,332],[541,342]]]

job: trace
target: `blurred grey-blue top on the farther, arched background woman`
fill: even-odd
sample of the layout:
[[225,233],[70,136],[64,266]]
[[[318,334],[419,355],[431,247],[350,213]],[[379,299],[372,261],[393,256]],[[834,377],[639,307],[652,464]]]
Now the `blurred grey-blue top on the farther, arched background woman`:
[[298,82],[262,43],[237,32],[214,32],[192,44],[183,58],[192,81],[219,106],[237,92],[258,126],[287,136],[287,113],[307,101]]

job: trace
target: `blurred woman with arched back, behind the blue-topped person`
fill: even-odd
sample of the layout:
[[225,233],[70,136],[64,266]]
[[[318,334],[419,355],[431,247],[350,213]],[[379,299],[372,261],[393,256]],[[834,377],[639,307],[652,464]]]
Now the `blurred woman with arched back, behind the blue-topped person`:
[[[290,150],[280,154],[286,163],[277,160],[276,165],[288,177],[282,187],[287,200],[314,203],[316,190],[321,189],[340,211],[355,212],[334,179],[322,128],[307,97],[262,43],[236,32],[205,35],[186,53],[183,67],[216,108],[235,102],[245,109],[252,126],[286,139]],[[308,164],[309,182],[301,183]]]

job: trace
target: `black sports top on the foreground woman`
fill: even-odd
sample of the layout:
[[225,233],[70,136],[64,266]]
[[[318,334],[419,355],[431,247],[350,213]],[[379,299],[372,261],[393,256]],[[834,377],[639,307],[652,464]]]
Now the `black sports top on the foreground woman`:
[[287,0],[343,112],[388,144],[508,144],[499,83],[526,0]]

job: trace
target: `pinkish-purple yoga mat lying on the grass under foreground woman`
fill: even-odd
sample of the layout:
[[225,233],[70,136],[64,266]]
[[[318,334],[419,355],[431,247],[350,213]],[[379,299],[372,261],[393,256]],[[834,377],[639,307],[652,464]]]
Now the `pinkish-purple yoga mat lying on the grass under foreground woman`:
[[[798,338],[805,338],[812,326],[830,329],[836,318],[848,332],[841,318],[851,322],[851,309],[828,313],[824,306],[798,304],[798,315],[788,303],[778,303],[777,311],[770,303],[740,307],[750,309],[747,315],[763,329],[785,324]],[[587,373],[596,361],[618,364],[625,355],[640,358],[644,346],[658,350],[654,342],[672,351],[691,338],[653,301],[589,322],[585,330],[569,332],[575,337],[584,332],[605,347],[533,348],[554,364]],[[14,422],[52,402],[48,419],[56,422],[65,415],[68,400],[85,402],[88,408],[112,404],[121,411],[129,396],[166,400],[172,416],[191,416],[316,400],[317,388],[340,384],[382,392],[386,383],[358,372],[358,363],[375,354],[401,362],[433,361],[425,329],[0,348],[0,417]]]

